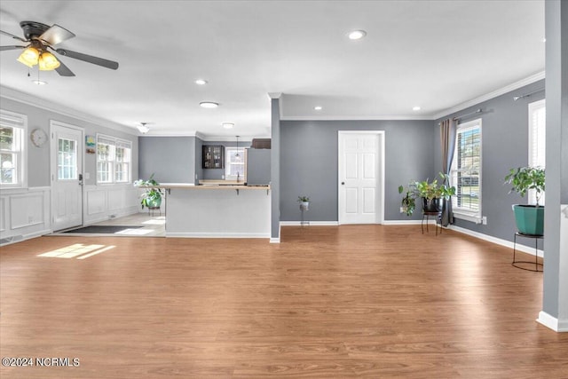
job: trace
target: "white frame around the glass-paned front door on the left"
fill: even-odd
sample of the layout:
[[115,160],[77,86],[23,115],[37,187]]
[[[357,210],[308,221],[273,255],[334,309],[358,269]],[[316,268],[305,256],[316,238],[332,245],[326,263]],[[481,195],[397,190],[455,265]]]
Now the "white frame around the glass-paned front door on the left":
[[[79,131],[81,132],[81,138],[78,141],[78,152],[77,154],[81,154],[81,167],[77,167],[77,175],[81,175],[83,176],[83,167],[85,164],[85,130],[84,128],[81,128],[79,126],[70,124],[70,123],[66,123],[66,122],[60,122],[60,121],[56,121],[56,120],[50,120],[50,187],[51,187],[51,215],[50,215],[50,221],[51,221],[51,228],[53,227],[53,219],[54,219],[54,215],[53,215],[53,209],[55,209],[55,191],[53,191],[53,183],[55,182],[55,176],[57,175],[57,152],[58,152],[58,146],[57,141],[55,140],[55,135],[54,135],[54,127],[59,126],[59,127],[63,127],[63,128],[68,128],[68,129],[72,129],[75,131]],[[84,186],[84,177],[82,180],[83,185],[81,186],[81,225],[84,224],[84,201],[85,201],[85,186]]]

